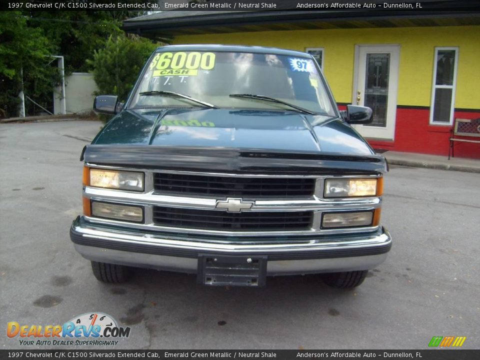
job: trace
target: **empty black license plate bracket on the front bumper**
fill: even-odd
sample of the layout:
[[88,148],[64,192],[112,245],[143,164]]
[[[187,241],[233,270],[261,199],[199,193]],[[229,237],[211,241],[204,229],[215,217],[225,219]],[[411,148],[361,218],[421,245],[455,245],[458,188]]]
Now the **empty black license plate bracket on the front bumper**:
[[198,256],[197,282],[207,286],[264,286],[266,256]]

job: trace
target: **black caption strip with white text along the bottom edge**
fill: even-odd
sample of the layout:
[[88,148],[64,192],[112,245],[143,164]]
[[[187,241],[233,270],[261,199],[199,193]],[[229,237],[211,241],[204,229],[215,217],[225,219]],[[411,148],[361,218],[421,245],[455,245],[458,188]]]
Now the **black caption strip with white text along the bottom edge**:
[[135,358],[160,360],[219,360],[219,359],[416,359],[416,360],[476,360],[480,350],[428,349],[428,350],[0,350],[0,359],[26,358]]

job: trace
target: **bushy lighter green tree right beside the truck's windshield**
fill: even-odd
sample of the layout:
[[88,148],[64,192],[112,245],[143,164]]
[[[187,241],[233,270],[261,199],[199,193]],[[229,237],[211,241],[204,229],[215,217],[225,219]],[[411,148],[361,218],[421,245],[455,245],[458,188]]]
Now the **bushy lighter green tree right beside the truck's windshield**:
[[99,92],[117,95],[125,100],[143,64],[157,44],[136,37],[110,36],[103,48],[95,50],[88,61]]

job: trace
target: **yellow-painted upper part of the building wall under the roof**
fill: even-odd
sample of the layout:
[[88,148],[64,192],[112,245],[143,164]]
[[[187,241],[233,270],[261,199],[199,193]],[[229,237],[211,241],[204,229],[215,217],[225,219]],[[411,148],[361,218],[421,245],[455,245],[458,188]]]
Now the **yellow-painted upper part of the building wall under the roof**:
[[399,105],[430,106],[435,46],[458,46],[455,107],[480,108],[480,26],[357,28],[183,35],[175,44],[323,47],[323,72],[337,102],[352,102],[355,44],[400,45]]

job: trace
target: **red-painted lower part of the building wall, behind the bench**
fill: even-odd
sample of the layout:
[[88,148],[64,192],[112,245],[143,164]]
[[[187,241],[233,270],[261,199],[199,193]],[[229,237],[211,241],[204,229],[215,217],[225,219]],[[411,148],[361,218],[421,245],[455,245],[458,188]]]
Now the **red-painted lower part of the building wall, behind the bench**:
[[[346,109],[339,105],[340,110]],[[367,139],[374,148],[393,151],[418,152],[448,156],[450,131],[453,126],[430,125],[428,108],[397,108],[395,138],[393,141]],[[454,118],[473,119],[480,117],[479,112],[454,111]],[[458,136],[470,140],[480,137]],[[480,143],[455,141],[455,157],[480,159]]]

